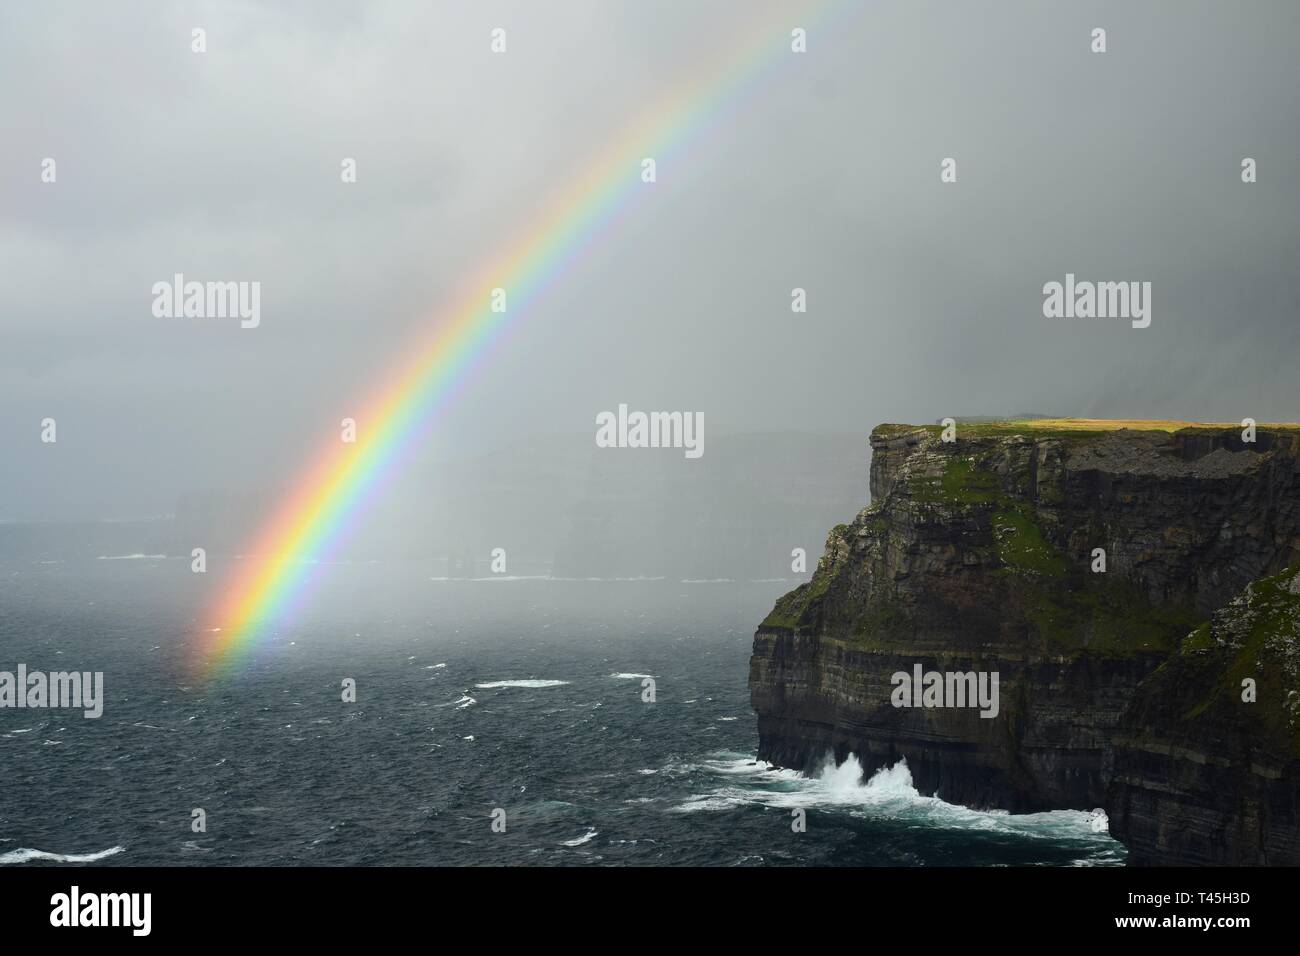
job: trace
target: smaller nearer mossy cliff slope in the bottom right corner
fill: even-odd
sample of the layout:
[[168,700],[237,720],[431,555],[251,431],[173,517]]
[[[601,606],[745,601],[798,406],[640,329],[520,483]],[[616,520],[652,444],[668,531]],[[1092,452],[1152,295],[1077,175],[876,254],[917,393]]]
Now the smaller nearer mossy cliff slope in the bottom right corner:
[[1297,635],[1291,568],[1247,585],[1138,688],[1106,801],[1130,862],[1300,865]]

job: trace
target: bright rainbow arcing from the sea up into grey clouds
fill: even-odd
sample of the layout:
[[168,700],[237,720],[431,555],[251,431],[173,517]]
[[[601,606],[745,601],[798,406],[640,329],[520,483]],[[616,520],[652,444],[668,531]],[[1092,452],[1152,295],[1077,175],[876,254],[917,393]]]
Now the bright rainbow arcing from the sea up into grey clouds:
[[[480,364],[508,328],[595,239],[654,191],[641,181],[641,160],[658,169],[724,120],[783,64],[797,60],[790,31],[831,36],[832,13],[844,0],[814,0],[781,25],[764,25],[711,69],[682,77],[658,103],[616,137],[586,170],[520,230],[519,238],[485,263],[441,310],[424,341],[402,350],[380,376],[382,388],[355,415],[358,441],[330,442],[295,484],[295,492],[261,529],[247,557],[205,618],[194,658],[207,676],[224,672],[252,646],[266,624],[285,619],[303,600],[312,559],[347,535],[403,453],[419,445],[433,414]],[[816,27],[816,30],[814,30]],[[493,290],[507,293],[507,311],[493,311]]]

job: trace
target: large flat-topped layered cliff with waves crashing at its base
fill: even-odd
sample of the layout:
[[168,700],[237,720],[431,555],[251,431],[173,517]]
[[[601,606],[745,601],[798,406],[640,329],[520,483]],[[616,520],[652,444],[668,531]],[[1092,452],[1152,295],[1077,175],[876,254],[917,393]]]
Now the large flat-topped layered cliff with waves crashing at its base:
[[[810,769],[827,752],[853,752],[868,771],[906,757],[922,792],[974,806],[1123,801],[1117,832],[1136,861],[1228,861],[1222,842],[1201,860],[1150,831],[1173,799],[1152,777],[1167,767],[1152,761],[1175,744],[1160,735],[1221,726],[1210,709],[1204,726],[1175,719],[1184,689],[1188,706],[1209,692],[1178,683],[1188,635],[1209,640],[1217,609],[1300,562],[1300,432],[1261,428],[1249,444],[1228,428],[982,424],[958,425],[954,442],[940,432],[875,429],[872,506],[831,532],[812,580],[759,627],[750,662],[759,756]],[[1221,662],[1208,661],[1187,658],[1212,675]],[[893,675],[916,665],[998,674],[997,715],[894,706]],[[1278,723],[1280,704],[1262,689],[1254,706]],[[1273,806],[1290,786],[1294,829],[1295,766],[1261,763],[1253,731],[1240,734],[1222,741],[1225,760],[1290,780],[1251,792]],[[1260,747],[1273,753],[1280,739]],[[1217,808],[1226,826],[1231,797],[1216,800],[1179,805],[1209,814],[1202,826]],[[1260,826],[1287,819],[1266,816]]]

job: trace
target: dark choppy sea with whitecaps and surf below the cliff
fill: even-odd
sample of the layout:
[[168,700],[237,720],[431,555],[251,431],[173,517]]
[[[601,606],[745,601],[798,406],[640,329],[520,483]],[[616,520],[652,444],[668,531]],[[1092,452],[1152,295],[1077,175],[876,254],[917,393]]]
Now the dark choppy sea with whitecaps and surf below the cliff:
[[0,865],[1124,862],[1086,812],[967,809],[906,762],[758,761],[753,632],[794,580],[320,563],[213,676],[195,622],[221,564],[0,562],[0,671],[101,671],[105,697],[0,709]]

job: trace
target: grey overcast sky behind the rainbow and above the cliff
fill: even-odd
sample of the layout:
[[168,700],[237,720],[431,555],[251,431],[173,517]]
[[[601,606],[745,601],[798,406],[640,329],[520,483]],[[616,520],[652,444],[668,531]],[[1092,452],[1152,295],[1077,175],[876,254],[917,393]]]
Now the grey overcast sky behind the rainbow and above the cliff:
[[[420,455],[594,436],[620,402],[861,434],[1300,419],[1300,5],[844,7],[512,316]],[[4,4],[0,519],[291,484],[545,196],[792,9]],[[259,281],[260,326],[155,317],[176,272]],[[1045,319],[1067,272],[1152,282],[1150,326]]]

